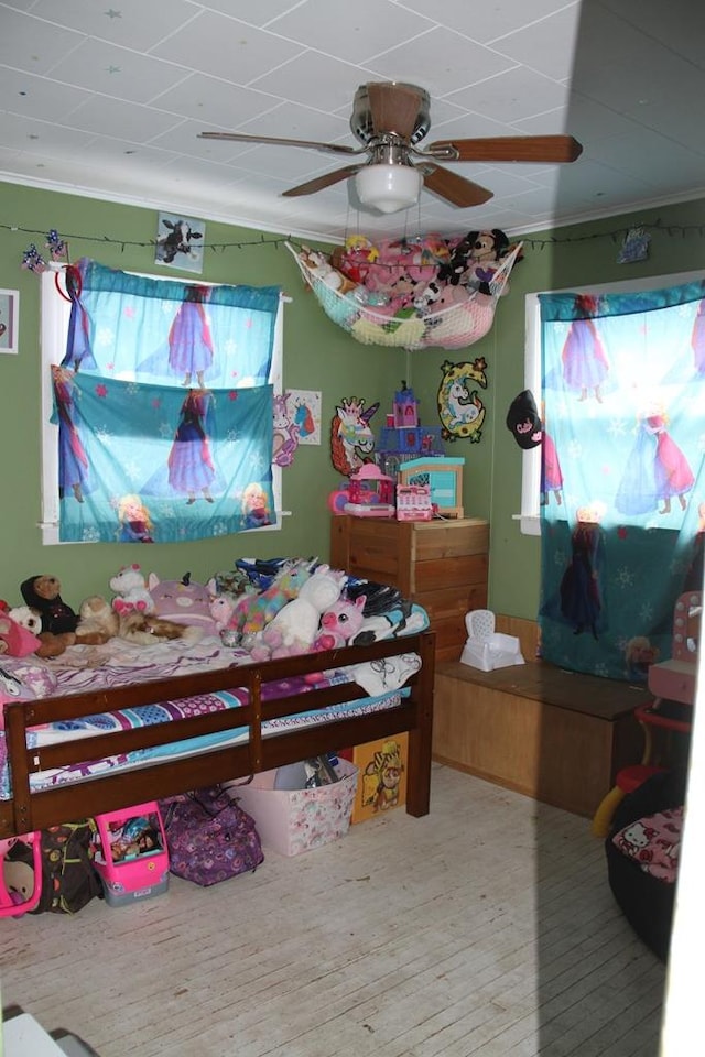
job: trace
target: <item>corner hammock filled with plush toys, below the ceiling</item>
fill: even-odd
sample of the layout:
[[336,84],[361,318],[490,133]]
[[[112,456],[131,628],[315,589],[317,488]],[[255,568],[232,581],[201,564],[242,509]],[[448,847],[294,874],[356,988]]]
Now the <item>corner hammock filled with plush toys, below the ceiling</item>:
[[[330,258],[289,248],[335,323],[364,344],[408,348],[459,348],[470,344],[468,337],[481,337],[476,330],[487,325],[489,306],[494,316],[495,298],[507,292],[519,253],[499,228],[377,243],[354,236]],[[443,318],[451,308],[456,309],[452,325]]]

